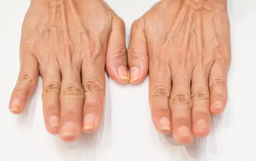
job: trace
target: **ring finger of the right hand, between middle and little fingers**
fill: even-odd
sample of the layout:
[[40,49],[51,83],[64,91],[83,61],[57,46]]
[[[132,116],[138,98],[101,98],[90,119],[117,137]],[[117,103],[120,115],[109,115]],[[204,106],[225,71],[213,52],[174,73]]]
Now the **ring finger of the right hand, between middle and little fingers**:
[[210,92],[208,86],[209,71],[195,67],[192,74],[192,125],[193,133],[198,137],[209,134],[210,131]]

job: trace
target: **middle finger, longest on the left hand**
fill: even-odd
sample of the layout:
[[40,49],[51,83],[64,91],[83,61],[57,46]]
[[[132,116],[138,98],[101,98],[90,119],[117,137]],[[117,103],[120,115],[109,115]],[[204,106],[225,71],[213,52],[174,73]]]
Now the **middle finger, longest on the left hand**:
[[77,139],[82,128],[82,107],[84,90],[81,84],[81,68],[62,67],[61,81],[61,129],[60,137],[64,141]]

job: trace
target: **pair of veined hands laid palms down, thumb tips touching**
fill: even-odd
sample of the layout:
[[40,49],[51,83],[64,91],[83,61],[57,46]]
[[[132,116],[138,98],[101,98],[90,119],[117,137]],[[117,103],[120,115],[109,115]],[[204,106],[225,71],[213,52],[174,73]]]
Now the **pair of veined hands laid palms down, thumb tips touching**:
[[99,128],[106,67],[119,84],[149,73],[156,129],[188,144],[228,99],[226,0],[162,0],[133,23],[128,52],[124,22],[102,0],[31,0],[20,62],[10,111],[23,111],[41,75],[46,129],[64,141]]

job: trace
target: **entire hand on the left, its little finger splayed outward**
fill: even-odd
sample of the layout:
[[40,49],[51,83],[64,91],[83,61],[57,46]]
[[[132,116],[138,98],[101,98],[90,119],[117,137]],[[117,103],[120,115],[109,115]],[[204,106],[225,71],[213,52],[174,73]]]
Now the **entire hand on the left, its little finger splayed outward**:
[[125,26],[102,0],[31,0],[9,109],[23,111],[41,75],[46,129],[64,141],[94,132],[102,120],[105,66],[116,82],[129,82]]

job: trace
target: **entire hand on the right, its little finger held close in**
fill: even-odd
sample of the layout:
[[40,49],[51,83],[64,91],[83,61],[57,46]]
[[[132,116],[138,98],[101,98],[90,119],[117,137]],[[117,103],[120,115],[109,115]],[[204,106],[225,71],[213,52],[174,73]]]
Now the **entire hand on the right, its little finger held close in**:
[[162,0],[131,29],[131,83],[149,71],[156,129],[180,144],[210,132],[228,99],[230,29],[226,0]]

